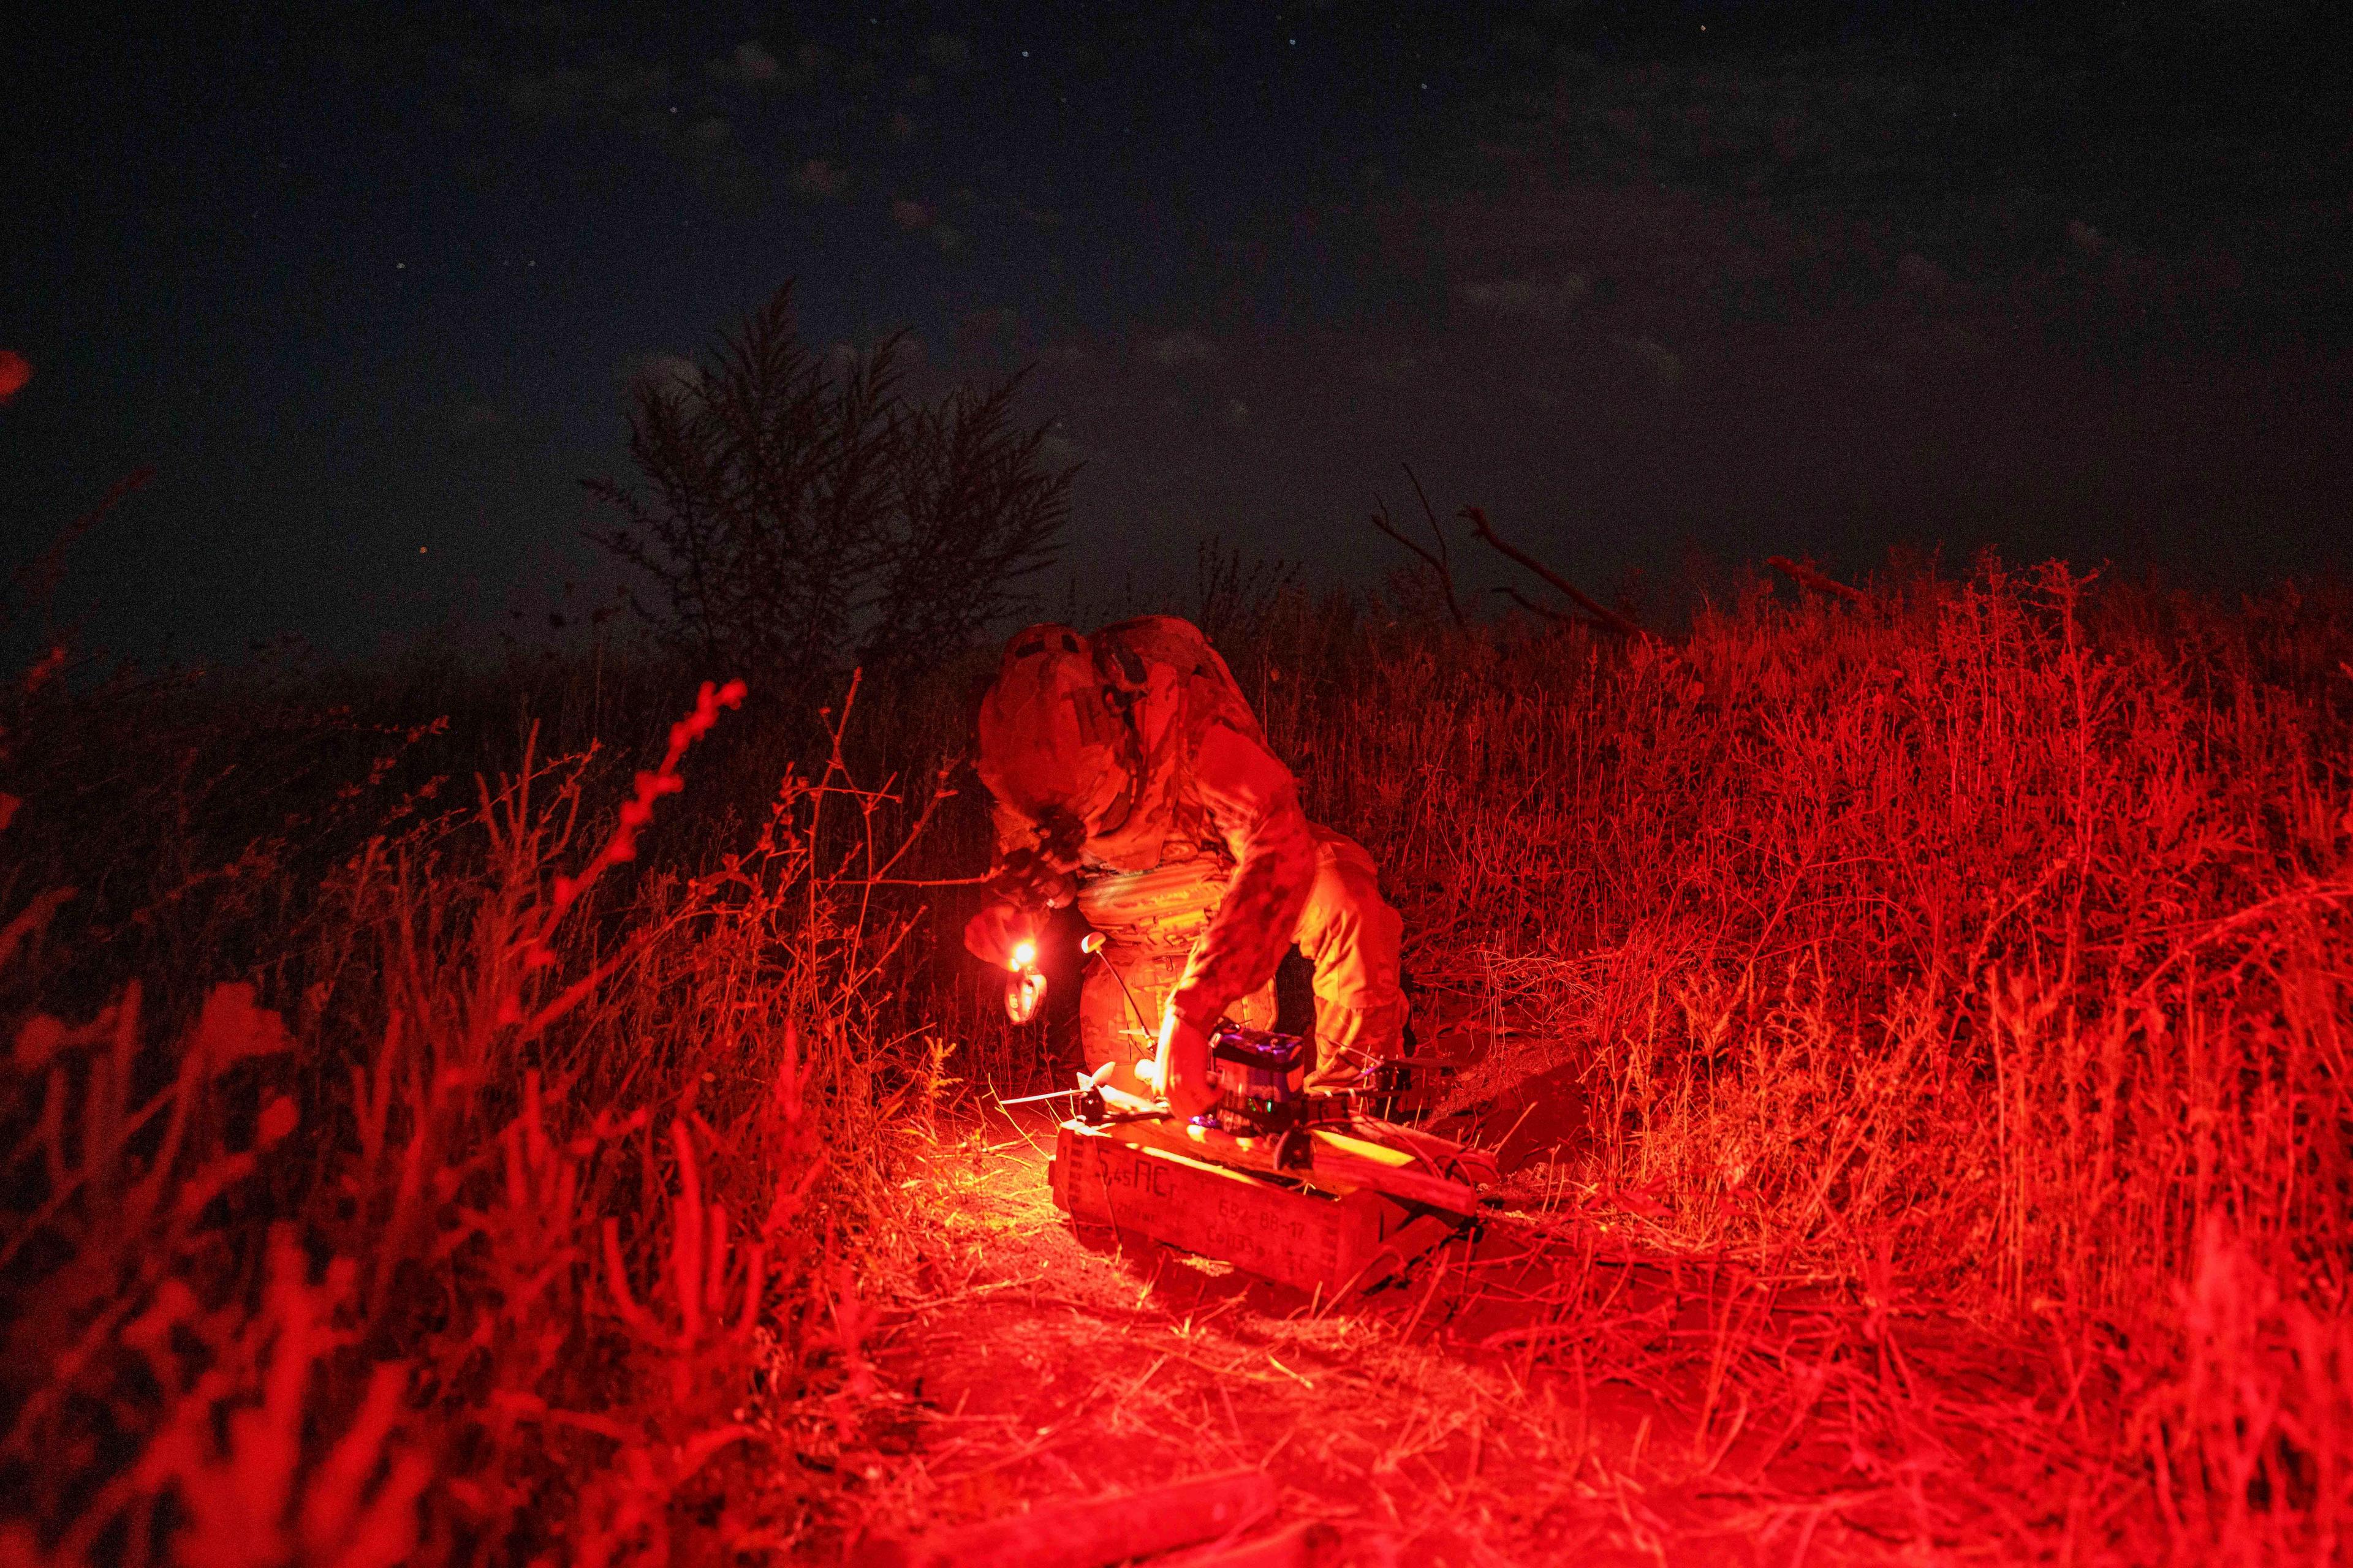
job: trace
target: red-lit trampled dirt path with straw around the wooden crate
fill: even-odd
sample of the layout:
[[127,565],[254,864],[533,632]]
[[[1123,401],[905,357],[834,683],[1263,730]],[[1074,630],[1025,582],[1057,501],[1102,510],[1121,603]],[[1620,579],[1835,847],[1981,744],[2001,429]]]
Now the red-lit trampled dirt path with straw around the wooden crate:
[[866,1537],[1257,1467],[1318,1563],[2033,1561],[2101,1479],[2033,1345],[1819,1281],[1645,1251],[1553,1166],[1339,1305],[1080,1239],[1049,1114],[944,1138],[882,1312]]

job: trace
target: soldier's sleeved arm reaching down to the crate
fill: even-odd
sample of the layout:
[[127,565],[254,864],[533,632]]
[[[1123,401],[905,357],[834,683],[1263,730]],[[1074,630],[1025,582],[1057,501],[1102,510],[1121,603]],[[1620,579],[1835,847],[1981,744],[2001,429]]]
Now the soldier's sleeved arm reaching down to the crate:
[[1195,1030],[1275,976],[1315,879],[1315,839],[1292,771],[1254,738],[1212,724],[1193,757],[1209,820],[1233,851],[1233,884],[1169,1004]]

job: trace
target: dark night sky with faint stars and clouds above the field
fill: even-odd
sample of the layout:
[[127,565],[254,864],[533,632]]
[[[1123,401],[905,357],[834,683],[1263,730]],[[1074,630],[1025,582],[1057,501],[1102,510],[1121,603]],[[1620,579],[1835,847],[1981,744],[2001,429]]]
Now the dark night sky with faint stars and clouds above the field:
[[1377,583],[1400,461],[1659,602],[2341,571],[2339,9],[35,5],[5,543],[153,465],[59,592],[92,646],[544,630],[616,581],[631,381],[798,280],[925,386],[1035,364],[1082,614],[1181,609],[1212,534]]

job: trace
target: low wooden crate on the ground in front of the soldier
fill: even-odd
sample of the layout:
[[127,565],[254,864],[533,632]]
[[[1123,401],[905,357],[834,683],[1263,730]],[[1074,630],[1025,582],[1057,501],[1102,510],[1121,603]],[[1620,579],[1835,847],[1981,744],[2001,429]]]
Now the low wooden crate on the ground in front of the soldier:
[[1381,1284],[1464,1225],[1381,1192],[1315,1192],[1120,1133],[1061,1124],[1047,1178],[1073,1225],[1221,1258],[1325,1300]]

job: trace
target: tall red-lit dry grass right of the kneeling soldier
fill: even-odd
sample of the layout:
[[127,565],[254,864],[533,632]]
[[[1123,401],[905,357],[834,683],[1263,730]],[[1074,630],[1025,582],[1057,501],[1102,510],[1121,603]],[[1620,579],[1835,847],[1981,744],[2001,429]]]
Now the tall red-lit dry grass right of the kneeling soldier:
[[1294,607],[1245,668],[1515,1025],[1461,1100],[1581,1095],[1661,1244],[2047,1324],[2172,1552],[2304,1561],[2353,1521],[2348,658],[2339,604],[1988,564],[1678,646]]

